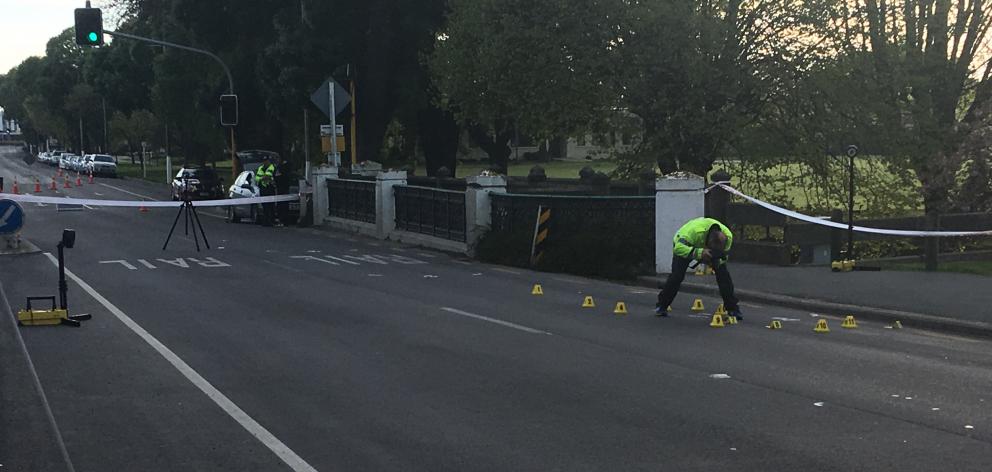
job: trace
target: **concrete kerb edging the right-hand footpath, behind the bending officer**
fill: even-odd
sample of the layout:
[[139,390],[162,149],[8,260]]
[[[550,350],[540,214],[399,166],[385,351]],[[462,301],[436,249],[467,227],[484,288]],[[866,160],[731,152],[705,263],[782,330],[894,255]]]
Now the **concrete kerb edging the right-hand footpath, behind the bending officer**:
[[[656,277],[639,277],[637,282],[638,285],[642,287],[650,288],[658,288],[664,283]],[[681,291],[700,295],[718,294],[716,286],[691,282],[684,282],[682,284]],[[736,290],[736,293],[746,301],[767,303],[770,305],[784,306],[836,316],[853,315],[855,318],[870,321],[889,323],[901,321],[907,328],[919,328],[944,333],[992,338],[992,324],[989,323],[959,320],[955,318],[948,318],[946,316],[913,313],[889,308],[848,305],[845,303],[835,303],[813,298],[799,298],[754,290],[738,289]]]

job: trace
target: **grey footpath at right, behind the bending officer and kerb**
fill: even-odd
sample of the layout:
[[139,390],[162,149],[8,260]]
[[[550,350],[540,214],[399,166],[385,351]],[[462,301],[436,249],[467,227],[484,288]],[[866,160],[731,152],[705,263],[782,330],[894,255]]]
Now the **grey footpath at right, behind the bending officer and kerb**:
[[[730,263],[742,302],[854,315],[904,326],[992,337],[992,278],[951,272],[831,272],[827,267]],[[665,275],[641,277],[658,288]],[[716,277],[686,274],[682,291],[718,294]],[[742,307],[747,316],[748,307]]]

